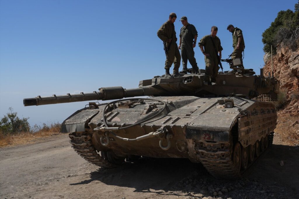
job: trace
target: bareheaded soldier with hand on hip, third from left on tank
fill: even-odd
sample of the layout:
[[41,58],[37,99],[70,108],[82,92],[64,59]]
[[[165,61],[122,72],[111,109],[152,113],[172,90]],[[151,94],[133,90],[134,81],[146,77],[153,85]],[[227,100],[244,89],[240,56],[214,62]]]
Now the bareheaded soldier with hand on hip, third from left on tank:
[[[216,77],[219,70],[219,57],[221,59],[221,47],[220,39],[216,36],[218,28],[216,26],[211,27],[211,34],[204,36],[198,46],[200,50],[205,55],[205,76],[204,76],[204,85],[216,85]],[[211,83],[210,83],[211,82]]]

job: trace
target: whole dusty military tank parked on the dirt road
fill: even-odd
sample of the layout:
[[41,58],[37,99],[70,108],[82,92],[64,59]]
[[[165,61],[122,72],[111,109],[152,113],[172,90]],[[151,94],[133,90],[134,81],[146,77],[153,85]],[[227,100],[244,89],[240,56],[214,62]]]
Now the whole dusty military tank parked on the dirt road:
[[[188,158],[216,178],[239,178],[271,144],[279,81],[263,75],[156,76],[138,88],[25,98],[24,106],[89,102],[62,123],[86,161],[111,168],[138,157]],[[263,73],[261,73],[263,74]],[[136,98],[149,96],[147,98]],[[126,98],[126,99],[123,99]]]

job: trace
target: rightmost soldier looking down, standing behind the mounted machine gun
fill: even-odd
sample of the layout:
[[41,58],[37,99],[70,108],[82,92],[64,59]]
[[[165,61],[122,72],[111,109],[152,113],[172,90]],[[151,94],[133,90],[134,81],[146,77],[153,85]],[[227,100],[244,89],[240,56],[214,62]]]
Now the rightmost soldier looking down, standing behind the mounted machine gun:
[[[234,47],[234,51],[231,53],[231,58],[232,59],[240,58],[241,59],[241,63],[242,63],[242,52],[245,49],[245,43],[244,43],[244,38],[243,38],[242,30],[239,29],[239,28],[237,28],[237,27],[234,27],[232,24],[228,25],[227,30],[229,32],[231,32],[232,35],[233,35],[233,47]],[[242,63],[241,67],[244,67],[243,63]],[[230,72],[235,73],[235,72],[237,72],[237,70],[234,69],[234,70],[232,70]]]

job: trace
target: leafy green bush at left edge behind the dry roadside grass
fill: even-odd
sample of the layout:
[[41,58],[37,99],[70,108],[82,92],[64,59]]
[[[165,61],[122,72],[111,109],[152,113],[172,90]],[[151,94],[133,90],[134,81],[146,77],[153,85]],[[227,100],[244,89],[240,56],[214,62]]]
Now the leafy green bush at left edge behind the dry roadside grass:
[[13,108],[10,107],[9,112],[1,118],[0,131],[4,134],[15,134],[20,132],[30,131],[30,125],[28,118],[19,118],[17,112],[13,112]]

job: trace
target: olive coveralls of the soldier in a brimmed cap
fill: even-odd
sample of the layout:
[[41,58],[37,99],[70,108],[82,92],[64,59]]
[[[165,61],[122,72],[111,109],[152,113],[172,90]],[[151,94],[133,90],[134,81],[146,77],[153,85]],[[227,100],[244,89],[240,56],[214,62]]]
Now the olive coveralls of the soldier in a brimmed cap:
[[186,27],[181,28],[181,55],[183,70],[187,70],[187,62],[189,60],[193,70],[197,71],[197,63],[194,57],[193,39],[197,35],[196,28],[192,24],[187,24]]

